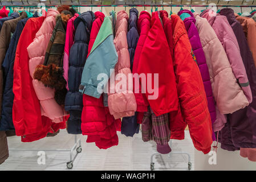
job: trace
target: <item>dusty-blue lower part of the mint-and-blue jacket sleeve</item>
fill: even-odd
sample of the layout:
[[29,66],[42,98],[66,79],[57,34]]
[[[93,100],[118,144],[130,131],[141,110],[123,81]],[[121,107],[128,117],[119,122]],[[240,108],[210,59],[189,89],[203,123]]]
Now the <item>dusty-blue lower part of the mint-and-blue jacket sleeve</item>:
[[[86,64],[84,65],[79,92],[100,98],[112,73],[111,69],[115,68],[116,62],[117,53],[113,44],[112,34],[88,56]],[[100,77],[100,79],[98,77]],[[102,81],[101,78],[103,78]]]

